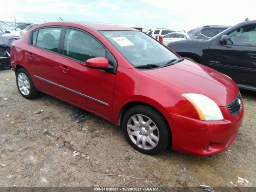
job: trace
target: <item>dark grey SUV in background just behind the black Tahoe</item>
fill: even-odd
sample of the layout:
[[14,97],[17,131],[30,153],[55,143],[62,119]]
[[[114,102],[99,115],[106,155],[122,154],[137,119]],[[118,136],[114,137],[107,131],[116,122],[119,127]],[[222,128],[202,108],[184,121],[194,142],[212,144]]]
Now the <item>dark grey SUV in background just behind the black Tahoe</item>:
[[190,30],[188,35],[192,39],[209,39],[230,27],[231,26],[206,25]]

